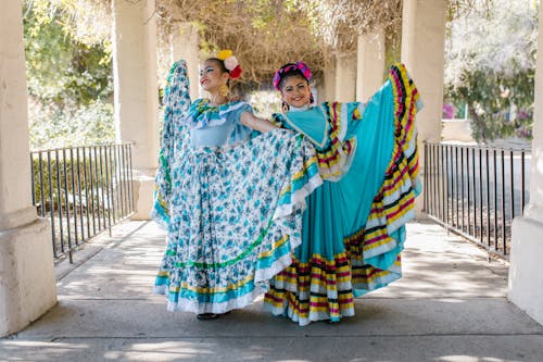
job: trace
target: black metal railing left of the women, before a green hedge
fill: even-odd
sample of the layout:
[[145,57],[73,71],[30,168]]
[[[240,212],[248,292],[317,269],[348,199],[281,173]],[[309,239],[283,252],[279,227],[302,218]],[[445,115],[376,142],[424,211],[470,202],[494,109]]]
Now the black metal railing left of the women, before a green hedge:
[[134,212],[131,143],[30,152],[33,203],[51,221],[55,262]]

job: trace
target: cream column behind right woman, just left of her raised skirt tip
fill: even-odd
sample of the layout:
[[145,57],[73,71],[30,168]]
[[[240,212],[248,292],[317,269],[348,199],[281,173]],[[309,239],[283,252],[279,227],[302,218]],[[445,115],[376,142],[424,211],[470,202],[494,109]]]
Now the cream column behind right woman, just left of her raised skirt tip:
[[365,102],[384,80],[384,30],[358,37],[356,57],[356,101]]

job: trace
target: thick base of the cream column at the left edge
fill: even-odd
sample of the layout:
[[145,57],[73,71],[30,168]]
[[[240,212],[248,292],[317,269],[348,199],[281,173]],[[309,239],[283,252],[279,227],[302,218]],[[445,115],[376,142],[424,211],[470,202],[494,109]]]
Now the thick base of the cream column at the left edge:
[[0,337],[17,333],[56,304],[47,220],[0,230]]

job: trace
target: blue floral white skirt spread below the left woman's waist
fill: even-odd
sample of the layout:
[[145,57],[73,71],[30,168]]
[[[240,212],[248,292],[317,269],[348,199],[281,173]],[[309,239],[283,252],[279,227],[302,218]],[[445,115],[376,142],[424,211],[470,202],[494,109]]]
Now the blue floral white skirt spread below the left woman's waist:
[[314,148],[276,129],[188,149],[171,164],[167,246],[154,291],[167,296],[171,311],[250,304],[301,244],[306,197],[321,184]]

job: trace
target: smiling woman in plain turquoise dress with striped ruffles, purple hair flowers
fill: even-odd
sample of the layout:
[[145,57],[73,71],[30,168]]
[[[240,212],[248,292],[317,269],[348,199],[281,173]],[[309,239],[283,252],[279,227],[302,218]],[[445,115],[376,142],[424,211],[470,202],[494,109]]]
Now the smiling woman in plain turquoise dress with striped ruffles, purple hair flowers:
[[405,223],[420,192],[417,88],[391,67],[368,103],[312,105],[311,71],[286,64],[274,77],[283,113],[276,124],[313,142],[325,179],[303,214],[302,245],[275,276],[265,305],[300,325],[354,315],[354,298],[401,277]]

